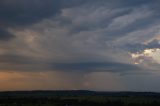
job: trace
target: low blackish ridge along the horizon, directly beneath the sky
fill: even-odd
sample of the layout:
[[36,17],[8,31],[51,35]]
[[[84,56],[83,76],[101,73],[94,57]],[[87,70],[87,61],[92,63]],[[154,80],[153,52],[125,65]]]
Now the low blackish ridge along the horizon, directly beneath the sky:
[[50,96],[109,96],[109,97],[160,97],[155,92],[97,92],[87,90],[56,90],[56,91],[6,91],[0,97],[50,97]]

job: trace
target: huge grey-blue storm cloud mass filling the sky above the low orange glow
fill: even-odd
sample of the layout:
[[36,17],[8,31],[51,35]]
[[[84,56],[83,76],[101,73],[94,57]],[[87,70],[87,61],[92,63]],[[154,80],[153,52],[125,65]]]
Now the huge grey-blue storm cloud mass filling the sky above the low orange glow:
[[[151,45],[158,44],[150,42],[149,46],[142,46],[128,40],[137,38],[139,35],[134,33],[138,31],[152,29],[154,24],[159,27],[159,15],[154,14],[158,9],[156,3],[145,0],[125,3],[122,0],[2,0],[0,38],[11,41],[3,43],[1,63],[8,62],[13,67],[23,63],[31,70],[36,69],[32,64],[47,66],[48,70],[52,62],[62,63],[52,68],[68,71],[138,70],[127,54],[129,49],[153,48]],[[152,36],[154,32],[150,31]],[[150,39],[143,32],[140,34],[142,39],[136,41],[137,44]]]

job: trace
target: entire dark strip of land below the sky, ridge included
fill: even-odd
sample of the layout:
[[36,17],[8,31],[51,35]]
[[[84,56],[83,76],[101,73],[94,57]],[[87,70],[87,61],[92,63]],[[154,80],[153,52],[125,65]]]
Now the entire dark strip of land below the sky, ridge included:
[[91,92],[6,92],[0,106],[160,106],[159,94]]

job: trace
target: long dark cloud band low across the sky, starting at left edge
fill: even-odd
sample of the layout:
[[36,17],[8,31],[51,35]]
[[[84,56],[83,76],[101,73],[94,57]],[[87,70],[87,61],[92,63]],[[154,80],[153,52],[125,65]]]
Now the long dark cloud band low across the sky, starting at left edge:
[[[52,63],[39,58],[28,57],[18,54],[0,55],[0,68],[16,71],[44,71],[59,70],[65,72],[126,72],[136,71],[140,68],[118,62],[78,62],[78,63]],[[2,65],[3,64],[3,65]]]

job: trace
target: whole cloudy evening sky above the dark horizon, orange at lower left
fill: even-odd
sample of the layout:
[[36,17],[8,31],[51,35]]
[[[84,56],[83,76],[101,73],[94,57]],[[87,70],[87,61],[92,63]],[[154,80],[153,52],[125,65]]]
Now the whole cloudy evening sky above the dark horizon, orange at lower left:
[[0,0],[0,91],[160,92],[159,0]]

